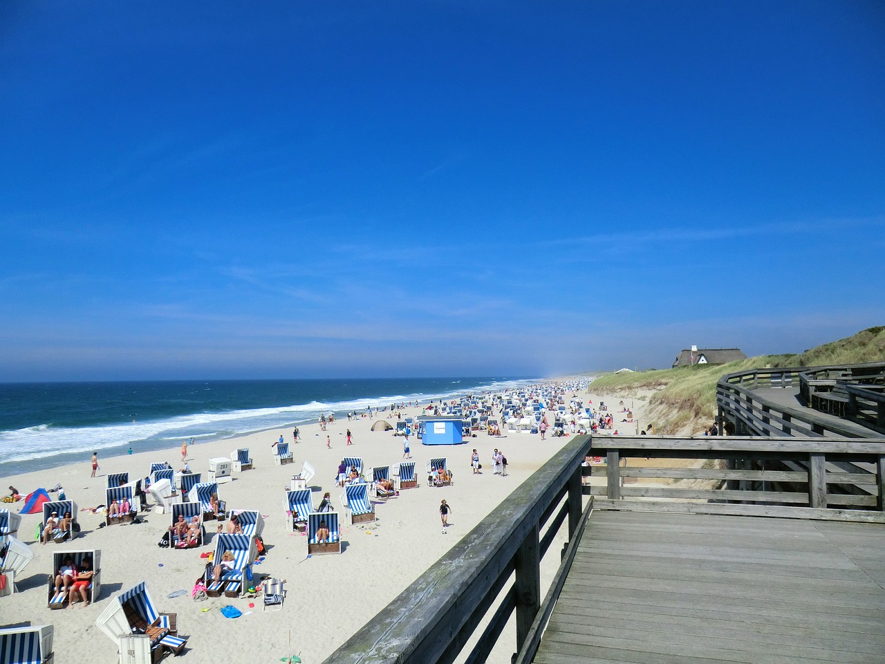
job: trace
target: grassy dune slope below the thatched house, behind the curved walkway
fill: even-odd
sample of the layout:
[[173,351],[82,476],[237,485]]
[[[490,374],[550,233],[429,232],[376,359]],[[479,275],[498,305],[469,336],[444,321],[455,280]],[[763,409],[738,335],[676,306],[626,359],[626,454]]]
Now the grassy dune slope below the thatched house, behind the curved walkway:
[[656,433],[690,435],[701,433],[712,424],[716,416],[716,383],[724,374],[757,368],[862,362],[885,362],[885,327],[865,329],[797,355],[760,355],[720,365],[605,374],[591,384],[590,390],[618,398],[643,398],[643,392],[654,390],[648,399],[650,421]]

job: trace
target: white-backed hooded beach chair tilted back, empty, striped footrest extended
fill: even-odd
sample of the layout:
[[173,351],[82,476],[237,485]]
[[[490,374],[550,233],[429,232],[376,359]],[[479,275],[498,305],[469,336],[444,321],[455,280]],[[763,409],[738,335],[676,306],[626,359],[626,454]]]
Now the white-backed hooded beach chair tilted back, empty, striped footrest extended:
[[187,643],[178,636],[177,614],[158,613],[142,581],[111,598],[96,627],[120,649],[120,661],[151,664],[166,651],[179,654]]

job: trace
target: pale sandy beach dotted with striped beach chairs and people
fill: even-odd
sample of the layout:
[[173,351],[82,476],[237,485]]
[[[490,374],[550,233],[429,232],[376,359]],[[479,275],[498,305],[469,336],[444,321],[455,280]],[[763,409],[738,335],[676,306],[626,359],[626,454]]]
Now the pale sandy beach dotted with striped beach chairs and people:
[[[593,395],[581,393],[580,396],[598,404]],[[621,419],[620,413],[616,412],[617,403],[609,404],[616,422]],[[637,418],[642,416],[643,405],[643,401],[635,402]],[[403,417],[422,413],[417,407],[406,407],[400,412]],[[552,452],[571,439],[571,436],[548,436],[542,442],[538,435],[511,433],[495,437],[481,431],[466,444],[441,449],[439,446],[424,446],[412,436],[412,460],[416,462],[419,479],[426,477],[423,471],[427,459],[446,456],[454,473],[453,485],[431,488],[421,482],[419,489],[404,490],[398,498],[378,504],[376,523],[349,526],[339,498],[342,490],[335,485],[335,471],[342,457],[362,457],[364,467],[393,466],[403,459],[402,437],[394,436],[391,431],[370,430],[378,419],[386,419],[391,424],[396,421],[390,413],[355,421],[342,417],[329,424],[325,432],[320,431],[319,424],[299,426],[301,437],[298,444],[291,444],[292,429],[271,429],[235,440],[189,447],[189,466],[194,472],[203,473],[204,481],[210,458],[229,457],[230,452],[238,447],[250,449],[254,469],[235,474],[234,482],[219,485],[219,498],[227,501],[228,510],[253,509],[264,515],[267,557],[254,567],[254,572],[287,580],[288,595],[281,611],[262,612],[261,598],[221,597],[203,602],[191,598],[191,588],[196,577],[203,573],[206,562],[200,554],[214,548],[212,536],[217,528],[216,521],[206,522],[209,535],[206,545],[178,551],[160,548],[157,544],[170,525],[168,514],[143,513],[140,524],[99,529],[104,515],[81,511],[78,514],[82,528],[80,537],[65,544],[40,544],[35,539],[39,515],[22,516],[17,537],[31,546],[35,558],[17,579],[19,592],[0,598],[3,616],[0,624],[53,624],[58,662],[115,662],[118,660],[117,645],[96,628],[96,618],[108,606],[109,598],[135,583],[146,581],[158,610],[178,614],[179,634],[189,639],[181,656],[192,664],[219,661],[219,645],[226,651],[223,661],[279,660],[291,653],[298,654],[304,662],[320,662],[491,513],[519,483],[543,465]],[[347,429],[352,432],[351,446],[346,446]],[[623,433],[635,431],[625,430]],[[277,466],[273,463],[272,445],[280,436],[289,442],[290,450],[294,452],[293,464]],[[331,439],[331,450],[326,447],[326,436]],[[470,467],[474,447],[481,455],[481,475],[473,475]],[[491,454],[495,448],[501,449],[508,459],[508,475],[505,477],[491,472]],[[285,489],[304,460],[317,469],[311,482],[314,504],[319,503],[324,491],[329,491],[333,505],[341,515],[340,555],[308,559],[306,537],[290,532]],[[100,470],[95,478],[89,477],[91,468],[89,456],[86,456],[75,466],[6,477],[3,486],[12,484],[27,493],[37,487],[50,488],[61,483],[66,497],[73,499],[78,507],[91,507],[104,503],[105,475],[128,471],[131,478],[144,477],[148,475],[150,463],[155,461],[168,461],[172,467],[181,468],[180,443],[165,452],[99,458]],[[443,498],[452,510],[447,535],[441,532],[438,511]],[[151,498],[149,501],[153,503]],[[7,507],[18,512],[21,506],[19,502]],[[101,597],[94,605],[83,607],[78,604],[52,611],[46,606],[47,575],[52,566],[52,553],[65,549],[101,550]],[[558,562],[558,556],[549,558],[557,560],[548,561],[543,569],[542,582],[545,585],[550,582]],[[182,590],[187,592],[178,597],[167,597]],[[219,608],[225,605],[236,606],[242,611],[242,617],[225,618],[219,612]],[[512,631],[505,632],[501,643],[495,660],[509,661],[513,648]]]

